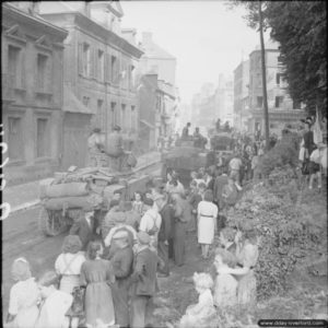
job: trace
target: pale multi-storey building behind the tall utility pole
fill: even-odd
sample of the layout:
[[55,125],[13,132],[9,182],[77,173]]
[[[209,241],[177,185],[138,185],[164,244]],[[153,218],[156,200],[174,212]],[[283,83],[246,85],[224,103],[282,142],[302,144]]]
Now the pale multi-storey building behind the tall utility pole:
[[[269,107],[269,129],[271,133],[281,134],[284,126],[295,128],[305,112],[301,104],[293,102],[288,94],[288,84],[283,79],[280,51],[277,44],[266,45],[267,92]],[[260,50],[249,55],[249,132],[256,130],[265,133],[263,95],[261,79]]]

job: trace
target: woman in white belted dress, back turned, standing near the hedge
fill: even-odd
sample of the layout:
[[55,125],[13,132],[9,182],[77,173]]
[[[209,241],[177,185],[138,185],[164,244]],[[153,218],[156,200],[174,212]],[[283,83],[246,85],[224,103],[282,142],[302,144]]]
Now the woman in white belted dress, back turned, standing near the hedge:
[[207,190],[203,200],[198,204],[198,243],[201,244],[201,256],[208,258],[210,245],[214,241],[218,207],[213,203],[213,192]]

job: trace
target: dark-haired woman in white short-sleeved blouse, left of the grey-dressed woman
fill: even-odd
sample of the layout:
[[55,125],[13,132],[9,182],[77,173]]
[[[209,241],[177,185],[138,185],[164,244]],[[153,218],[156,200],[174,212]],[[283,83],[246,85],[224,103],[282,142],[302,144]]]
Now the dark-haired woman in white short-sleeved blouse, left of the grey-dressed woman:
[[63,239],[62,253],[55,262],[57,274],[61,276],[59,290],[71,294],[75,286],[80,285],[80,272],[85,261],[81,251],[82,243],[77,235],[68,235]]

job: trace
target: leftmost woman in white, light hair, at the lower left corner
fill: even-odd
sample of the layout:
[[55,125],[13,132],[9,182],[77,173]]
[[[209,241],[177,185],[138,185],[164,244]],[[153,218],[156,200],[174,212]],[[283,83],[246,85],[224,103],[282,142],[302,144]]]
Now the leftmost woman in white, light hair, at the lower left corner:
[[16,283],[10,290],[8,327],[32,328],[38,316],[39,291],[25,258],[13,261],[11,276]]

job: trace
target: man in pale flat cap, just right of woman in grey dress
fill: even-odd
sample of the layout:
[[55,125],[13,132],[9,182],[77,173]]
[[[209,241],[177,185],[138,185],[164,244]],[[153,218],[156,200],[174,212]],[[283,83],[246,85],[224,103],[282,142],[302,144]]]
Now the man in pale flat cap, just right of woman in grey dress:
[[119,327],[129,327],[129,278],[132,273],[133,250],[128,232],[116,232],[113,244],[116,251],[109,260],[115,274],[115,284],[112,286],[115,319]]

